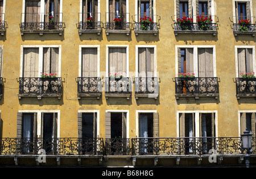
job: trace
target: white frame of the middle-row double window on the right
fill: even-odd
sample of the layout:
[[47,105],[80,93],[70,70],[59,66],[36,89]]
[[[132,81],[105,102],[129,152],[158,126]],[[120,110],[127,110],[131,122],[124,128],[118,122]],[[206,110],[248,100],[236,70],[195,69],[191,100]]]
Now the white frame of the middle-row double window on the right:
[[[175,45],[175,76],[178,77],[179,68],[178,68],[178,48],[193,48],[193,67],[195,77],[198,77],[198,48],[212,48],[213,49],[213,77],[217,77],[216,69],[216,47],[215,45]],[[195,60],[196,59],[196,60]]]

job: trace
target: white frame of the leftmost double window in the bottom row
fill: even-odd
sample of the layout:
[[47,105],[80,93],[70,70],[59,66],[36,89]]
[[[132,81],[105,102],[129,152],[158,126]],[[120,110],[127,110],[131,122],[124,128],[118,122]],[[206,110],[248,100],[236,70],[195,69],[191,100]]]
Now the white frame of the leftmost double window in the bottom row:
[[42,113],[57,113],[57,138],[60,138],[60,110],[18,110],[18,113],[37,113],[36,136],[42,134]]

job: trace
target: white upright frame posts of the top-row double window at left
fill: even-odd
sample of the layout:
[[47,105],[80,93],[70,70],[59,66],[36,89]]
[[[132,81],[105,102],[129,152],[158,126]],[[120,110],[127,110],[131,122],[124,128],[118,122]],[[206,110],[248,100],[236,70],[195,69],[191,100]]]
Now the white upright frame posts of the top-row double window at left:
[[[22,23],[25,22],[25,2],[26,0],[22,0]],[[63,0],[60,0],[60,22],[62,22],[62,6]],[[46,14],[46,5],[44,0],[40,0],[40,22],[44,23],[44,14]]]

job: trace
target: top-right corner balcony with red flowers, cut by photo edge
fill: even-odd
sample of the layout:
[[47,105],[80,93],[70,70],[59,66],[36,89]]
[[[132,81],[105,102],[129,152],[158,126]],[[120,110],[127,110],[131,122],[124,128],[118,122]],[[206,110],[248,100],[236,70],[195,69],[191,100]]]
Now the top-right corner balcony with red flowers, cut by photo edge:
[[[251,36],[255,36],[255,33],[256,33],[256,26],[255,26],[255,22],[253,23],[251,21],[251,19],[253,19],[255,17],[251,16],[249,17],[248,19],[245,19],[245,20],[241,20],[242,17],[240,16],[234,16],[233,20],[231,20],[230,18],[230,21],[233,22],[233,32],[234,32],[234,36],[237,36],[237,35],[251,35]],[[247,20],[247,22],[246,22]]]

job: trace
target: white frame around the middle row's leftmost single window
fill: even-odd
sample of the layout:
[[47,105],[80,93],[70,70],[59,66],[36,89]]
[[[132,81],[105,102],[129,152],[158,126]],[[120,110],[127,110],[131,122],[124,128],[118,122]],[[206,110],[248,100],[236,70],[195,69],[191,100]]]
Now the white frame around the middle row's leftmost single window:
[[79,77],[82,76],[82,48],[97,48],[97,77],[100,77],[100,45],[79,45]]

